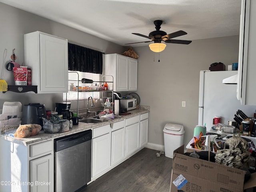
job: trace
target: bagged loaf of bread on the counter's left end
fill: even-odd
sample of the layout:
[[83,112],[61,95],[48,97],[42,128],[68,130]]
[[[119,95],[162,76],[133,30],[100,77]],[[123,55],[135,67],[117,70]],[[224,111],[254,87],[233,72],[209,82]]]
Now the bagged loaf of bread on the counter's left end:
[[38,124],[26,124],[20,125],[16,132],[14,133],[14,137],[18,138],[26,138],[30,136],[37,135],[42,127]]

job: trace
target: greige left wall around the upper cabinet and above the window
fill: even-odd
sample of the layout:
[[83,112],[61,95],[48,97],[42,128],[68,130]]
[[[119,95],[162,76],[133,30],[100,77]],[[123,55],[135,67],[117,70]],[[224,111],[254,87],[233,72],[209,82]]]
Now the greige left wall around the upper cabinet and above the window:
[[[68,39],[68,42],[108,53],[122,53],[126,48],[100,39],[98,37],[53,22],[46,18],[30,14],[20,9],[0,3],[0,72],[2,72],[3,52],[7,48],[6,61],[11,61],[12,49],[15,48],[16,62],[24,63],[24,34],[41,31]],[[26,64],[23,64],[26,66]],[[33,70],[33,69],[32,69]],[[9,85],[14,85],[13,73],[4,69],[4,80]],[[33,77],[32,77],[33,80]],[[62,94],[31,94],[0,92],[0,108],[5,101],[40,102],[45,104],[47,110],[54,110],[56,102],[62,102]],[[81,102],[85,104],[86,102]],[[76,104],[74,104],[76,105]],[[84,108],[84,106],[81,106]]]

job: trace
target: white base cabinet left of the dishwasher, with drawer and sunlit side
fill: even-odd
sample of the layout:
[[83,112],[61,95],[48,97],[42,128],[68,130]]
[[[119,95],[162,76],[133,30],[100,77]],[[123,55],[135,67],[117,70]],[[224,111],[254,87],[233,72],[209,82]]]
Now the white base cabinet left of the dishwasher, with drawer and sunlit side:
[[[4,147],[0,180],[10,181],[0,185],[0,191],[52,192],[54,191],[53,141],[24,146],[7,140]],[[38,183],[44,182],[44,183]]]

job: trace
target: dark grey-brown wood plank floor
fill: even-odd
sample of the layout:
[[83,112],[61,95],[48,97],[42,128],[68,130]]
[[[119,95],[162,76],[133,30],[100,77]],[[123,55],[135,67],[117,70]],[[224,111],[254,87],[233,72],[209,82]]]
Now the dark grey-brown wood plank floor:
[[144,148],[81,192],[169,192],[172,159]]

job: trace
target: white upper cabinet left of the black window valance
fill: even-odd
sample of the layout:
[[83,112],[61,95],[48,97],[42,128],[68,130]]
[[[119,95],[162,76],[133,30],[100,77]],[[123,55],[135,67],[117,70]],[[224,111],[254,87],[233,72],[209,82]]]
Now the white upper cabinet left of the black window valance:
[[24,60],[38,93],[68,92],[68,40],[39,31],[25,34]]

